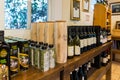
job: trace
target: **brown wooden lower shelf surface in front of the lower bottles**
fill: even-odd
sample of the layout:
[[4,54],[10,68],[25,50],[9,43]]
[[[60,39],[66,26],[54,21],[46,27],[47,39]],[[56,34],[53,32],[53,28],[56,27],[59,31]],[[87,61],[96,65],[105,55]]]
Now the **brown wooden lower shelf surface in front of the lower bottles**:
[[100,69],[97,69],[89,78],[88,80],[100,80],[103,75],[106,74],[106,72],[111,68],[111,62],[105,66],[101,67]]

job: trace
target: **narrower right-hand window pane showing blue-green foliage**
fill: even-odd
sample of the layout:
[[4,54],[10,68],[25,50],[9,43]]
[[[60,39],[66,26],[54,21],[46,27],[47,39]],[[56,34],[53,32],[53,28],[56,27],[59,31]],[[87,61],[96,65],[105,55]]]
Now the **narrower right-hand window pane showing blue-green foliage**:
[[32,0],[32,22],[47,21],[48,2],[47,0]]

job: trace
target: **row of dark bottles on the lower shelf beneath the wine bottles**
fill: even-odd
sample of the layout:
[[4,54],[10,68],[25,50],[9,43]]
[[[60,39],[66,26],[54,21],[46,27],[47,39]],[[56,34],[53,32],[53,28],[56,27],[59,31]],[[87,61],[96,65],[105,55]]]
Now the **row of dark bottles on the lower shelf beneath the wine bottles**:
[[106,66],[110,61],[110,49],[70,72],[70,80],[88,80],[94,70]]

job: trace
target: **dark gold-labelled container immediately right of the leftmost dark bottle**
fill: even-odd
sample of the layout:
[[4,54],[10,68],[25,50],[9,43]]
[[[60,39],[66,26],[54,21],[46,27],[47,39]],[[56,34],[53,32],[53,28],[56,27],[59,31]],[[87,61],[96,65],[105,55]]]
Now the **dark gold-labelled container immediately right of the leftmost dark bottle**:
[[10,73],[14,76],[20,70],[17,41],[5,39],[5,42],[10,46]]

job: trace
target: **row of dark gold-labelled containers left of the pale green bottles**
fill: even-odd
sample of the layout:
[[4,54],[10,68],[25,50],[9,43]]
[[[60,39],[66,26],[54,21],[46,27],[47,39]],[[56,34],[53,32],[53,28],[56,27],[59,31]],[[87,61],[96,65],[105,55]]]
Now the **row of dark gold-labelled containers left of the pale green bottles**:
[[10,75],[14,76],[20,71],[29,68],[29,41],[17,37],[5,37],[10,46]]

